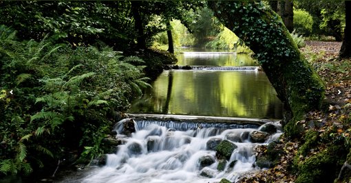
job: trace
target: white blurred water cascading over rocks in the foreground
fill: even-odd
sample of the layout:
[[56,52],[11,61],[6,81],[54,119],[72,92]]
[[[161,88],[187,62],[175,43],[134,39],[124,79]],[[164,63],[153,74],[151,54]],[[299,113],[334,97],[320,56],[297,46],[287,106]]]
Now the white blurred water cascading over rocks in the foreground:
[[[137,121],[137,131],[125,137],[125,144],[118,146],[116,154],[107,154],[106,165],[96,167],[79,182],[220,182],[222,178],[235,182],[240,173],[258,169],[253,167],[253,147],[257,143],[251,143],[248,135],[258,127],[194,125],[193,130],[184,130],[180,123],[173,123],[171,128],[159,124]],[[277,134],[265,143],[275,140]],[[218,171],[214,144],[223,140],[237,148],[224,169]]]

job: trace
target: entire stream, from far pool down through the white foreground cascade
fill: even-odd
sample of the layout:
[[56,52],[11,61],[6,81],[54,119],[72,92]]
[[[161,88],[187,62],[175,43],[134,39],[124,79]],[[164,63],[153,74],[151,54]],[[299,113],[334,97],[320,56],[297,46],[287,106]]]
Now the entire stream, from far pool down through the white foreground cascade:
[[[125,136],[124,122],[118,122],[114,130],[123,144],[106,155],[105,165],[62,183],[236,182],[243,173],[259,171],[254,147],[281,135],[282,106],[264,72],[221,69],[256,66],[235,53],[184,52],[178,60],[195,69],[164,71],[129,111],[138,113],[133,116],[136,132]],[[275,132],[258,142],[253,134],[264,131],[266,123]],[[220,161],[216,148],[223,141],[235,149]]]

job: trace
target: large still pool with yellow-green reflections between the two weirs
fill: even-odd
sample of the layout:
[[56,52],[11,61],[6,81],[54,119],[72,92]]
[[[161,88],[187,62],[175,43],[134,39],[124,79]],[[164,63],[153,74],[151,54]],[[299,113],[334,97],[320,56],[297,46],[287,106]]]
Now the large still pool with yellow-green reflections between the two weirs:
[[281,102],[259,71],[164,71],[129,112],[281,118]]

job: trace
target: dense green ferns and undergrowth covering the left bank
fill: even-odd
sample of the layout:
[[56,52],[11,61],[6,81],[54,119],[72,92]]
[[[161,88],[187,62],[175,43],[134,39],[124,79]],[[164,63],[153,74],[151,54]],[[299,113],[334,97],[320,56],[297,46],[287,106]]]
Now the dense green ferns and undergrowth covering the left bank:
[[17,41],[14,33],[0,27],[0,172],[53,171],[51,161],[71,150],[102,154],[116,112],[149,87],[143,60],[109,47],[52,45],[52,38]]

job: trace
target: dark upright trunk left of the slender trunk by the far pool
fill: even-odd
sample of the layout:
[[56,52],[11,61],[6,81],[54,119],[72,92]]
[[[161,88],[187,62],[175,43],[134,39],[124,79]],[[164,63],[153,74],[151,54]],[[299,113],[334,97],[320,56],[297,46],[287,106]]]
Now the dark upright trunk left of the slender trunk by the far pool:
[[142,19],[140,16],[140,2],[141,1],[131,1],[131,12],[134,17],[134,27],[136,29],[136,42],[139,49],[146,48],[146,39],[144,36],[144,29],[142,28]]

